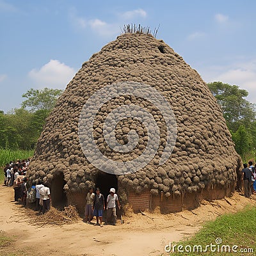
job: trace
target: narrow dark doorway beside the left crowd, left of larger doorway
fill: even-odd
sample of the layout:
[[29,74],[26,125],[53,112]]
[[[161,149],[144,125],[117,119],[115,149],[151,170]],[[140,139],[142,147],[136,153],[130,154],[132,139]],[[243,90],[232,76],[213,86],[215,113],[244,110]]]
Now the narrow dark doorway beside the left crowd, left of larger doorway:
[[67,205],[67,196],[64,191],[66,182],[63,173],[56,173],[51,182],[52,206],[63,209]]

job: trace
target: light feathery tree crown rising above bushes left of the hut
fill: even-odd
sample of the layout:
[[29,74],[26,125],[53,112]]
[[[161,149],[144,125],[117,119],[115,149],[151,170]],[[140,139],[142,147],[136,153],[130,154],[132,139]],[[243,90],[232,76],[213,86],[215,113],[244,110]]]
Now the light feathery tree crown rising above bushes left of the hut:
[[22,108],[29,108],[31,112],[38,110],[51,111],[56,104],[56,100],[63,90],[44,88],[42,90],[29,89],[28,92],[22,94],[26,98],[21,104]]

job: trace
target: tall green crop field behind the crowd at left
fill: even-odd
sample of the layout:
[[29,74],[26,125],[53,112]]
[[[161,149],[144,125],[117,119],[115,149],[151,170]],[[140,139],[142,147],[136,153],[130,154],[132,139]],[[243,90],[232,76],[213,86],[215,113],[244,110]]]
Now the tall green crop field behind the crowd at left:
[[[28,159],[33,156],[33,150],[9,150],[0,149],[0,168],[3,169],[6,163],[16,161],[17,159]],[[3,170],[0,170],[0,182],[3,182]]]

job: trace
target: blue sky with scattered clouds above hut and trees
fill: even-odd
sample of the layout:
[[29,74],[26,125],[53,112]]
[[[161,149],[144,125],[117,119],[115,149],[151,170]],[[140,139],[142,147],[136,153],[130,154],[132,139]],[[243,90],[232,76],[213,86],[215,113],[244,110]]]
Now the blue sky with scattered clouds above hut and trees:
[[124,24],[154,30],[205,82],[248,90],[256,103],[256,1],[0,0],[0,109],[29,88],[62,88]]

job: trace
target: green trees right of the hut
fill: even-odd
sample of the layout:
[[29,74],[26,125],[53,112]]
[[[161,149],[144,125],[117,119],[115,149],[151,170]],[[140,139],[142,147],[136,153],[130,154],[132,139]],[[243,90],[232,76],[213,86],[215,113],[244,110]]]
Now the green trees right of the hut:
[[255,104],[245,98],[246,90],[237,85],[222,82],[208,83],[214,97],[223,111],[232,140],[236,144],[237,153],[246,160],[246,156],[254,156],[256,148]]

